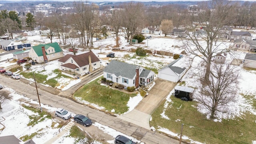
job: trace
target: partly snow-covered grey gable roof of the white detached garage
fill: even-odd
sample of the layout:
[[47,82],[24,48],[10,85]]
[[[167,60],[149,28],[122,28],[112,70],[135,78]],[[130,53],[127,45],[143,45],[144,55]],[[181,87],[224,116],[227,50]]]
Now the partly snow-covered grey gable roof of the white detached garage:
[[[175,72],[177,75],[181,74],[182,72],[184,72],[184,70],[186,70],[186,67],[184,67],[184,64],[182,61],[180,61],[182,58],[178,58],[177,60],[174,60],[173,62],[171,62],[170,64],[168,64],[167,66],[164,66],[163,68],[161,68],[160,70],[163,70],[165,68],[170,68],[173,72]],[[160,71],[158,70],[158,71]]]

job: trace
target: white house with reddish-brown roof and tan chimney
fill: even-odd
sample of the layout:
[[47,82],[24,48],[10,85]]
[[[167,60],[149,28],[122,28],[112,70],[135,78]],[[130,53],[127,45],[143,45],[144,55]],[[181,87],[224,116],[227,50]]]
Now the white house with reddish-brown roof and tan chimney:
[[67,74],[83,76],[100,68],[100,60],[93,52],[80,55],[67,54],[58,60],[59,69]]

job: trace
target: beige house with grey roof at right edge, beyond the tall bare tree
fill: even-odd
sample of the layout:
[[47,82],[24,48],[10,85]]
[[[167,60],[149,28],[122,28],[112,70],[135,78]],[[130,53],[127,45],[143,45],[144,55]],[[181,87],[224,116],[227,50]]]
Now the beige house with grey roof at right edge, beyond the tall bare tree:
[[232,49],[256,52],[256,40],[236,39]]

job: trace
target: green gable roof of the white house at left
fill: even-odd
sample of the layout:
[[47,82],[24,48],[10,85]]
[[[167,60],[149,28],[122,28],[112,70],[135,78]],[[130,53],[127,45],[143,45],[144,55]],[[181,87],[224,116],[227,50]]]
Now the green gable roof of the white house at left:
[[[45,50],[47,50],[50,47],[53,47],[55,50],[55,53],[62,52],[62,49],[60,48],[58,42],[49,43],[49,44],[38,44],[37,46],[32,46],[32,48],[34,49],[34,51],[38,56],[43,56],[42,46],[44,46]],[[47,51],[46,51],[46,55],[48,55]]]

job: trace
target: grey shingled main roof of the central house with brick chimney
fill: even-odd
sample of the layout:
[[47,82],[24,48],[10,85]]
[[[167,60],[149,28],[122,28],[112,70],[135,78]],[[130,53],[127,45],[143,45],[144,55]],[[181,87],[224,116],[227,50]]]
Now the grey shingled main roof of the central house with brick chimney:
[[[132,79],[136,75],[136,67],[134,64],[127,64],[125,62],[119,62],[117,60],[112,60],[103,72],[109,74],[115,74],[117,77],[122,76],[125,78]],[[140,67],[140,66],[138,66]]]

